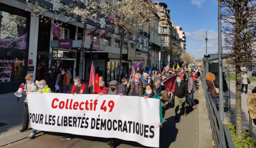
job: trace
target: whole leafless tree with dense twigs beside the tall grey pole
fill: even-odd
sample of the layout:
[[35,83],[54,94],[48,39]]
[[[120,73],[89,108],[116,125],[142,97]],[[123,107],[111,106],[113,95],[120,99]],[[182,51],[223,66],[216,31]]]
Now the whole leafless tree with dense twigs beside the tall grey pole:
[[256,63],[256,0],[222,0],[224,48],[236,65],[236,136],[242,139],[241,69]]

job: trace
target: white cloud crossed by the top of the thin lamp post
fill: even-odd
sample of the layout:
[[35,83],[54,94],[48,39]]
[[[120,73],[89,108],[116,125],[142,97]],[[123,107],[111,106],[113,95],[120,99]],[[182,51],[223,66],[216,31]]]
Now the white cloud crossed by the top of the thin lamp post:
[[[196,30],[192,33],[192,36],[195,40],[205,40],[206,29]],[[207,30],[207,38],[208,40],[218,39],[218,32],[213,30]]]

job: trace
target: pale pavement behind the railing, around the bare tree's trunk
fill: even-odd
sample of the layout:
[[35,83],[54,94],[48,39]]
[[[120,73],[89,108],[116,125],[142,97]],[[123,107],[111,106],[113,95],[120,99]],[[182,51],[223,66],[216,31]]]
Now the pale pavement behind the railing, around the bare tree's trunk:
[[[256,87],[256,82],[248,85],[248,93],[245,94],[245,88],[241,95],[242,99],[242,125],[244,129],[249,130],[249,113],[247,106],[247,98],[251,94],[252,89]],[[230,81],[230,109],[224,110],[224,122],[236,124],[236,82]],[[256,125],[253,124],[253,138],[256,139]]]

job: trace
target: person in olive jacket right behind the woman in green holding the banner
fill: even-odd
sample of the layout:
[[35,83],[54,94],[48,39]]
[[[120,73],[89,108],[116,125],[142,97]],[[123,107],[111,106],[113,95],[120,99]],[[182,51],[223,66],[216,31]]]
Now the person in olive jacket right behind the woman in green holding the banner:
[[164,85],[161,85],[161,82],[159,80],[155,81],[155,93],[160,97],[161,100],[161,106],[162,106],[162,114],[164,117],[165,114],[165,103],[168,101],[168,95],[165,91],[166,87]]

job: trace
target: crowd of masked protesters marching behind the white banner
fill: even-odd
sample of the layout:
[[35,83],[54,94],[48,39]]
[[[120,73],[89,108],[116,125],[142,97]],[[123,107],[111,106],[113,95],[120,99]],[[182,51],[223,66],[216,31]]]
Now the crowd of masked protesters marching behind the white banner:
[[[27,74],[26,76],[26,87],[24,87],[23,93],[27,95],[29,91],[49,93],[67,93],[69,90],[69,84],[72,82],[72,75],[66,68],[58,67],[56,74],[52,75],[52,69],[46,70],[41,81],[35,81],[33,75]],[[101,69],[97,67],[96,73],[101,73]],[[169,86],[165,85],[165,81],[169,78],[174,77],[175,89],[167,88]],[[99,87],[97,90],[92,90],[92,94],[99,95],[128,95],[128,96],[138,96],[143,99],[155,98],[160,102],[159,112],[160,121],[158,127],[163,126],[163,118],[165,115],[166,105],[169,103],[173,104],[175,108],[175,120],[180,118],[179,105],[182,105],[183,115],[187,116],[186,108],[191,107],[196,109],[196,103],[194,101],[194,92],[197,90],[197,83],[200,80],[200,70],[199,69],[164,69],[162,70],[152,70],[148,73],[145,71],[137,71],[133,78],[127,80],[123,75],[121,77],[121,82],[112,80],[109,85],[104,81],[104,78],[99,77]],[[71,89],[71,94],[88,94],[88,86],[82,83],[81,77],[73,78],[73,86]],[[210,83],[207,83],[210,85]],[[215,101],[214,101],[215,102]],[[23,112],[23,126],[19,132],[24,132],[28,129],[29,112],[27,107],[27,102],[24,103]],[[35,138],[36,129],[27,137],[30,139]],[[66,133],[62,140],[71,139],[71,135]],[[115,139],[109,139],[108,145],[111,148],[115,147]]]

